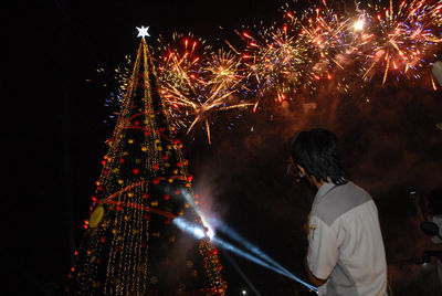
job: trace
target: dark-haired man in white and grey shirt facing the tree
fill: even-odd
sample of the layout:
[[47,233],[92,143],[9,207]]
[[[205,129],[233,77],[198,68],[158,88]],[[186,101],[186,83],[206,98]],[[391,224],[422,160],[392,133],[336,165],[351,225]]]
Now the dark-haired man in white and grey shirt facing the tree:
[[387,295],[387,262],[378,211],[346,178],[334,133],[301,131],[293,168],[317,189],[308,221],[306,269],[319,295]]

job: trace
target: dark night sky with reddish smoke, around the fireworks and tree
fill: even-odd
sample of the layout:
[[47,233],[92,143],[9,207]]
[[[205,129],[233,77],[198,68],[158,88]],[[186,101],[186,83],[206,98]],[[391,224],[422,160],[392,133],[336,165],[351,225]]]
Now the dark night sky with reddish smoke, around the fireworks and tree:
[[[62,295],[114,128],[104,123],[110,91],[102,85],[112,84],[126,54],[135,54],[135,27],[149,25],[154,38],[190,31],[214,46],[223,39],[240,44],[234,29],[277,20],[283,3],[53,0],[6,10],[2,295]],[[101,67],[108,74],[98,76]],[[315,192],[286,175],[288,142],[305,128],[336,131],[351,180],[378,204],[392,289],[431,295],[435,269],[412,264],[413,250],[427,237],[417,230],[408,191],[425,195],[442,184],[440,121],[441,92],[422,80],[362,87],[355,97],[323,89],[290,106],[241,118],[227,114],[212,127],[211,146],[201,129],[181,138],[203,208],[305,279],[302,224]],[[243,287],[253,295],[230,260],[262,295],[305,293],[295,282],[221,253],[229,295]]]

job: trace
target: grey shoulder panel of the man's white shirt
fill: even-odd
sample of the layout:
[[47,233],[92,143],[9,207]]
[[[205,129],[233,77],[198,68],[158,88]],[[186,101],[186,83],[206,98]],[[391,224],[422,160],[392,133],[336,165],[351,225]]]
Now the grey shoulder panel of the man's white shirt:
[[315,204],[312,215],[332,225],[336,219],[368,201],[371,201],[370,194],[349,181],[333,188],[320,202]]

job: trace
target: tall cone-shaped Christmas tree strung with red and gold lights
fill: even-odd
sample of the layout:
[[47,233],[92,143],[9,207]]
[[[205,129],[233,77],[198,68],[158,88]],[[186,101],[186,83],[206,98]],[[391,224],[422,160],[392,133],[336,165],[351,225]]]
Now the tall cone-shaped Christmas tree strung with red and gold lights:
[[71,294],[224,294],[209,239],[172,223],[202,225],[176,134],[143,36],[70,274]]

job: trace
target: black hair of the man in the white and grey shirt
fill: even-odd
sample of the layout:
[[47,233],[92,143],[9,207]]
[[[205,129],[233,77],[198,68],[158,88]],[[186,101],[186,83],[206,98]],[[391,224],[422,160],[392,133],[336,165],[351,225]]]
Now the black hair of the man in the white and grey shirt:
[[303,130],[293,138],[291,154],[295,163],[318,181],[329,178],[335,184],[347,182],[339,141],[334,133],[323,128]]

